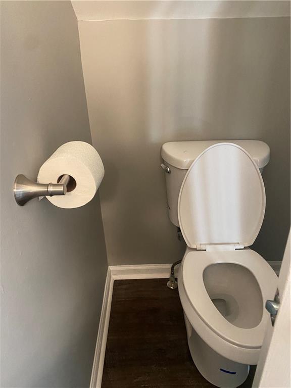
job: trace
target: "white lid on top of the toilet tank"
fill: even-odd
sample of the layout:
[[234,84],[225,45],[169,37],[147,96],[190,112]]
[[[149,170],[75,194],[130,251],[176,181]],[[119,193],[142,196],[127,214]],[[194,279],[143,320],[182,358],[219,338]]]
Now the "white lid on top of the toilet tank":
[[192,162],[208,147],[216,143],[234,143],[244,148],[255,160],[259,168],[265,167],[270,160],[270,148],[261,140],[193,140],[170,141],[162,146],[163,160],[182,170],[188,170]]

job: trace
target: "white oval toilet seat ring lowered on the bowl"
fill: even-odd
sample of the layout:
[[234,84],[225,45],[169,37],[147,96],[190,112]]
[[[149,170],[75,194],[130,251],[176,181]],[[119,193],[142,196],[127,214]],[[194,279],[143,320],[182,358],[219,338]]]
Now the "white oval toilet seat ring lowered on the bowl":
[[277,277],[269,264],[255,251],[190,251],[183,260],[182,279],[187,298],[199,317],[223,340],[247,349],[260,349],[264,337],[267,311],[262,306],[262,319],[256,327],[241,328],[224,318],[210,299],[203,280],[204,270],[217,263],[233,263],[247,268],[256,278],[262,303],[272,299]]

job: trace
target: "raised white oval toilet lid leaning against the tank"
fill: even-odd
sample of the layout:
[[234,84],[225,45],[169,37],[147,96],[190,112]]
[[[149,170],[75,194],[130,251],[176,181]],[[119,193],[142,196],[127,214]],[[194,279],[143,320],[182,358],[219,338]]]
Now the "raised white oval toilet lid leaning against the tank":
[[265,214],[265,187],[250,154],[217,143],[191,164],[182,182],[178,217],[190,248],[203,244],[254,243]]

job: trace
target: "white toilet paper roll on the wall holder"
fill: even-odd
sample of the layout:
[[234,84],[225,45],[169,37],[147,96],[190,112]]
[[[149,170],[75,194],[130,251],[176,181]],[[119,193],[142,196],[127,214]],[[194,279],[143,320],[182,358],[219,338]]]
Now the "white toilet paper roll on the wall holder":
[[[46,197],[59,208],[78,208],[94,197],[104,177],[104,166],[98,152],[84,141],[70,141],[59,147],[39,169],[39,183],[57,183],[62,175],[70,180],[65,196]],[[72,183],[73,182],[73,183]]]

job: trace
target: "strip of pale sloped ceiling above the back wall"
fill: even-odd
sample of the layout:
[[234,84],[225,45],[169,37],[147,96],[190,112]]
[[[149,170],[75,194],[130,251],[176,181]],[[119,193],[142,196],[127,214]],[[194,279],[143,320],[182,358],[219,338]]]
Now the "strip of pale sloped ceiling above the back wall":
[[79,21],[204,19],[290,15],[288,1],[94,1],[72,0]]

